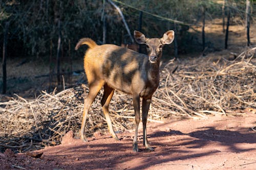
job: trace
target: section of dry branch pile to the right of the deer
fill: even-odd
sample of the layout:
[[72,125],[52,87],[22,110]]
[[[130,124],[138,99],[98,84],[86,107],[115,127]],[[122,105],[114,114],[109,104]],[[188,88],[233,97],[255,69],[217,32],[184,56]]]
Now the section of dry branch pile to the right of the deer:
[[167,64],[155,100],[165,101],[177,114],[201,117],[256,107],[255,50],[232,57],[225,54],[184,60],[172,75],[169,70],[173,65]]

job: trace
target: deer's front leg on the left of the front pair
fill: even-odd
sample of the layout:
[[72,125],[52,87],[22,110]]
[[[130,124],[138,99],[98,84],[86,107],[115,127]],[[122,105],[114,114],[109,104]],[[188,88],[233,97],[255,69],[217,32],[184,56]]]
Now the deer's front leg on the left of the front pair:
[[140,96],[139,95],[134,95],[133,96],[133,106],[134,106],[134,111],[135,111],[135,135],[133,139],[133,151],[138,152],[138,127],[140,123]]

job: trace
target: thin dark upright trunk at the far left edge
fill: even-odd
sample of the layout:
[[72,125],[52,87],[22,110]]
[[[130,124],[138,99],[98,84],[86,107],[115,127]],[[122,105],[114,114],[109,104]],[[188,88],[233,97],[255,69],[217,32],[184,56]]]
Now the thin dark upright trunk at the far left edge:
[[5,23],[5,30],[4,30],[4,42],[3,42],[3,90],[2,93],[6,93],[7,87],[7,71],[6,71],[6,57],[7,57],[7,41],[8,41],[8,27],[9,22]]

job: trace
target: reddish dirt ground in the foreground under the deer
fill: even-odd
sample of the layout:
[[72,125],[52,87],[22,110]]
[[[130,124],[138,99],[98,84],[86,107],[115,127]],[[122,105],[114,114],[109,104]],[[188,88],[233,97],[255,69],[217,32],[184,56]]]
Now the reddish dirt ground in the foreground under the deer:
[[[255,112],[207,119],[166,119],[148,123],[148,140],[155,151],[144,149],[140,123],[139,152],[132,151],[134,131],[110,135],[95,133],[83,143],[72,133],[62,144],[31,153],[0,153],[1,169],[255,169]],[[37,153],[42,153],[38,156]],[[40,158],[35,158],[36,156]]]

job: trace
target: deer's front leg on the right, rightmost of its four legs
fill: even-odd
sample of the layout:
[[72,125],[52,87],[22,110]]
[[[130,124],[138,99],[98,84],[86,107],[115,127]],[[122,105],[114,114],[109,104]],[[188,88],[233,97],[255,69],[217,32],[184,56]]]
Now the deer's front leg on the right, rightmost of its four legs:
[[151,98],[142,100],[142,124],[143,124],[143,144],[146,149],[150,151],[154,151],[152,147],[148,144],[147,141],[147,134],[146,134],[146,122],[147,122],[147,113],[148,109],[150,108]]

